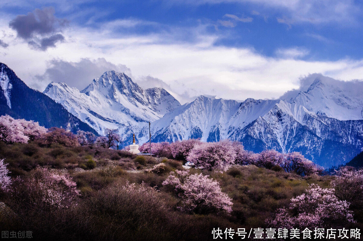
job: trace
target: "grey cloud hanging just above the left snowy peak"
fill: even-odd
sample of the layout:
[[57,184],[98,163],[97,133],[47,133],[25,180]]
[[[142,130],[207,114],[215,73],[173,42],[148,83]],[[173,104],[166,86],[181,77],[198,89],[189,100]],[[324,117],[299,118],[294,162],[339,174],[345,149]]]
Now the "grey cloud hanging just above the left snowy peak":
[[[85,88],[94,78],[99,78],[104,72],[114,70],[131,75],[131,71],[123,64],[113,64],[104,58],[81,59],[79,62],[67,62],[53,59],[42,75],[36,76],[36,81],[45,82],[65,82],[69,86],[79,90]],[[131,77],[131,76],[130,76]]]

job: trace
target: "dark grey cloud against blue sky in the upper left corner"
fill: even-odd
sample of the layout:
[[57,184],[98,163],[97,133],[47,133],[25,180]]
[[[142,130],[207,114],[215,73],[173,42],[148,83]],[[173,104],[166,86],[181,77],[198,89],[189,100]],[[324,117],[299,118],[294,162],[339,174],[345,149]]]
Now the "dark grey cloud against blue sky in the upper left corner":
[[54,16],[54,8],[35,9],[27,15],[18,15],[10,21],[9,27],[17,32],[17,36],[27,40],[29,45],[45,51],[48,47],[56,47],[63,42],[61,29],[68,24],[65,19]]

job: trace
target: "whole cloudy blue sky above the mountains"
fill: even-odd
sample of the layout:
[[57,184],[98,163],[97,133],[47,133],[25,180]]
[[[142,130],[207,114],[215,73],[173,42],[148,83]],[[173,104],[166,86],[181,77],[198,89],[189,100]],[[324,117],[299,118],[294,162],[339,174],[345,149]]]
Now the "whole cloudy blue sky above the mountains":
[[363,79],[355,0],[2,0],[0,62],[28,86],[79,90],[103,72],[198,95],[279,98],[321,73]]

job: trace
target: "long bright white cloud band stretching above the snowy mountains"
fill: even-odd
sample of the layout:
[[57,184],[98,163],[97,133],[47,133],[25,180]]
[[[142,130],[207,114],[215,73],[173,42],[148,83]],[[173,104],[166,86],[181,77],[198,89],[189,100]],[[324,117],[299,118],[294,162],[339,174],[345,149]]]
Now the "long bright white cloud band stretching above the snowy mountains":
[[[250,48],[215,46],[217,36],[207,35],[203,25],[193,29],[193,42],[166,42],[166,38],[175,37],[173,32],[115,37],[105,30],[74,27],[64,32],[65,43],[46,52],[31,50],[18,41],[6,22],[0,21],[0,27],[6,32],[1,39],[9,43],[1,62],[40,91],[48,83],[39,82],[36,76],[44,74],[52,59],[79,63],[84,58],[92,61],[104,58],[115,66],[127,66],[136,79],[150,75],[162,80],[171,91],[182,96],[182,102],[201,94],[237,100],[278,98],[297,88],[301,76],[315,72],[343,80],[363,76],[363,60],[299,60],[294,56],[302,53],[294,49],[289,50],[290,56],[271,58]],[[289,51],[285,50],[285,54]]]

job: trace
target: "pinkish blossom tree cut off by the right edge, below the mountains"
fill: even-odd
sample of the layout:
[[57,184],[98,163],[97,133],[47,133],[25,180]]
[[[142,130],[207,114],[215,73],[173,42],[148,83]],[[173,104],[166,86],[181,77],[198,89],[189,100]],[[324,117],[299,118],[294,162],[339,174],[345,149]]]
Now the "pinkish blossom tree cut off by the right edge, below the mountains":
[[363,169],[344,166],[336,171],[331,185],[335,189],[335,195],[340,200],[346,200],[352,204],[362,204],[363,200]]

